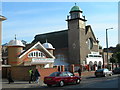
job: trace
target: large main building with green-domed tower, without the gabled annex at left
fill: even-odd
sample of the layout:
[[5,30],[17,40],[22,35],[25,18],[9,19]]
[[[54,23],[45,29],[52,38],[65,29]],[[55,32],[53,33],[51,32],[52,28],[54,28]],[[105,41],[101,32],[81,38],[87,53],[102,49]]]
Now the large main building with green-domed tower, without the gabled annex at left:
[[75,64],[91,69],[96,65],[101,68],[103,60],[99,55],[99,41],[96,39],[92,27],[86,25],[87,20],[82,15],[83,11],[75,5],[69,13],[66,20],[67,30],[38,34],[32,43],[38,41],[44,43],[47,39],[55,47],[54,65]]

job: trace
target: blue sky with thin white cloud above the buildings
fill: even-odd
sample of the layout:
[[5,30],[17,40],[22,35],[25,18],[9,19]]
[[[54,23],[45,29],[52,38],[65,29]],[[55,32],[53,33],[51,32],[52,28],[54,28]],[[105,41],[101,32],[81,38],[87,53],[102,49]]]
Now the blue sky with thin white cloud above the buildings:
[[[2,2],[3,21],[2,44],[15,38],[28,43],[35,35],[54,31],[66,30],[67,15],[75,2]],[[83,11],[87,22],[100,41],[106,47],[106,29],[108,44],[118,43],[118,2],[77,2]]]

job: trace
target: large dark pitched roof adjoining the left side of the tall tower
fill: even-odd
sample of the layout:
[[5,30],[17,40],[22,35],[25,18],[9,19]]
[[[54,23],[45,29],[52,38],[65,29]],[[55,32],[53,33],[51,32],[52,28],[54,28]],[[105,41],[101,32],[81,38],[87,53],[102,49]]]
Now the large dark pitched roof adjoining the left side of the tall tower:
[[54,48],[66,48],[68,47],[68,30],[38,34],[35,36],[33,43],[38,41],[45,43],[46,39],[53,45]]

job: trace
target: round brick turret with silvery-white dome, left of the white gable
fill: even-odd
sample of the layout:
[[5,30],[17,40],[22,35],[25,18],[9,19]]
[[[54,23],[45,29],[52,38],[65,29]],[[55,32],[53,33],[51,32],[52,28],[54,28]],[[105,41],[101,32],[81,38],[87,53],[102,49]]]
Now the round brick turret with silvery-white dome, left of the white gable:
[[23,43],[20,40],[15,39],[11,40],[8,45],[8,64],[12,66],[20,65],[22,61],[18,58],[18,56],[23,51]]

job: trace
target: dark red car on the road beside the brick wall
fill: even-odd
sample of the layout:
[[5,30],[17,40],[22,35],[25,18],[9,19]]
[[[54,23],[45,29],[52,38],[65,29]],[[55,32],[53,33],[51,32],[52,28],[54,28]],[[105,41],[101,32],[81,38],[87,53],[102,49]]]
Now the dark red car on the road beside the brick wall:
[[67,83],[79,84],[81,81],[80,76],[75,76],[73,73],[68,71],[65,72],[54,72],[50,76],[44,77],[44,83],[47,86],[59,85],[64,86]]

